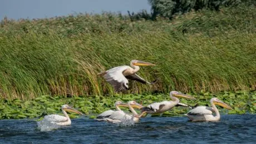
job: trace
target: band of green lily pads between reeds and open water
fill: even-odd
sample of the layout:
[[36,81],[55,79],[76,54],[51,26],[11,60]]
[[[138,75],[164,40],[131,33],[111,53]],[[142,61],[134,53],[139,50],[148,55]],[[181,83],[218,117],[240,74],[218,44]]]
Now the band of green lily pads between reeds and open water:
[[[184,104],[194,106],[210,105],[212,97],[218,97],[220,100],[227,102],[233,107],[233,110],[219,108],[221,113],[228,114],[245,114],[256,112],[256,91],[248,93],[246,91],[237,91],[234,93],[223,92],[213,95],[209,92],[195,95],[197,100],[180,99]],[[60,114],[61,105],[68,104],[75,109],[83,112],[91,118],[95,118],[97,114],[103,111],[115,109],[114,103],[117,100],[124,102],[135,100],[146,106],[152,102],[170,100],[169,95],[115,95],[115,96],[89,96],[89,97],[61,97],[61,96],[40,96],[34,100],[0,100],[0,119],[23,119],[42,117],[50,114]],[[124,110],[128,110],[124,108]],[[188,107],[174,107],[171,111],[165,112],[163,116],[182,116],[188,112]],[[76,118],[78,115],[69,114],[71,118]],[[153,115],[154,116],[154,115]],[[41,119],[40,119],[41,120]]]

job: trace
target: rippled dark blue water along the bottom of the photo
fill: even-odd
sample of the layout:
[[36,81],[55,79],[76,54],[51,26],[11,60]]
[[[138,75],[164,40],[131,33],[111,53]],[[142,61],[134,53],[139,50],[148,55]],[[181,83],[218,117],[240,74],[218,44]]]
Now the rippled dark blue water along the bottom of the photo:
[[[45,124],[43,124],[45,125]],[[41,127],[40,127],[41,126]],[[221,115],[218,122],[146,117],[132,125],[72,119],[42,127],[35,120],[0,120],[0,143],[255,143],[256,115]],[[45,128],[45,129],[43,129]],[[41,131],[42,130],[42,131]]]

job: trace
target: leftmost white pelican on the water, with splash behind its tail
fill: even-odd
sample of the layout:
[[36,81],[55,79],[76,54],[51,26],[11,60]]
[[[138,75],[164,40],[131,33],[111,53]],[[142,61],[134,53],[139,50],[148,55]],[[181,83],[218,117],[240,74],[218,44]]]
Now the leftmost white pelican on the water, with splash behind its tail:
[[64,125],[71,125],[70,117],[67,115],[66,111],[75,112],[76,114],[83,115],[80,111],[77,111],[68,105],[62,105],[61,110],[65,116],[47,115],[47,116],[45,116],[45,118],[43,120],[50,121],[52,124],[64,126]]

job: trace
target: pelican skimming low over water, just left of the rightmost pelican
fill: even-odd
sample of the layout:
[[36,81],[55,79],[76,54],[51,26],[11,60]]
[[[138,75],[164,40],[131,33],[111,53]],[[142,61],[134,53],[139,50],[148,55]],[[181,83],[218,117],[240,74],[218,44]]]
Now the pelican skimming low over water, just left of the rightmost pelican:
[[185,105],[185,104],[179,103],[180,100],[177,97],[185,97],[187,99],[194,99],[195,100],[195,97],[192,97],[190,95],[182,94],[178,91],[171,91],[170,92],[170,97],[171,97],[171,100],[173,100],[173,101],[154,102],[153,104],[142,107],[140,109],[141,112],[142,112],[140,116],[142,116],[144,113],[147,113],[147,114],[161,114],[165,111],[169,111],[171,108],[173,108],[174,106],[176,106],[178,104],[181,105],[181,106]]

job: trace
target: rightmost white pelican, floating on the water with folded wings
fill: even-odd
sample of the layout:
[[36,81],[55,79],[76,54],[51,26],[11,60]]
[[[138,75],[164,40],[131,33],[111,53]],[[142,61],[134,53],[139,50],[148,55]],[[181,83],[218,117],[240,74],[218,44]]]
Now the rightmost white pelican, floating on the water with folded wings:
[[[225,107],[227,109],[232,109],[229,105],[225,104],[223,101],[219,100],[217,97],[213,97],[210,100],[211,107],[208,106],[198,106],[195,109],[190,110],[188,114],[189,120],[191,121],[218,121],[220,120],[219,110],[215,105]],[[212,115],[213,112],[216,113],[216,116]]]

